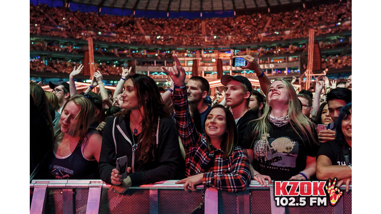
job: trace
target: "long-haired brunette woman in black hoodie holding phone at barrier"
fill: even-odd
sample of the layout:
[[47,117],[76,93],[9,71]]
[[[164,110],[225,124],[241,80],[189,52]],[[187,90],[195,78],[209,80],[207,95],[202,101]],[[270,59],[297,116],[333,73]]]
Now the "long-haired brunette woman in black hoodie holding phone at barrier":
[[[127,76],[122,93],[125,110],[106,121],[99,171],[110,190],[124,193],[131,185],[179,179],[184,172],[176,125],[155,81],[142,74]],[[127,177],[116,160],[127,156]]]

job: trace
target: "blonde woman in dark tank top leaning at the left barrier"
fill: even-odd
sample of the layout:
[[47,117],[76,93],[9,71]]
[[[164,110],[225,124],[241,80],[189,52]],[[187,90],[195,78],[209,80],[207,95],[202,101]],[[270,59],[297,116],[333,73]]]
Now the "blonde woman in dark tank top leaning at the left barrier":
[[89,129],[94,113],[94,104],[83,95],[74,95],[65,103],[48,166],[53,178],[100,178],[98,161],[102,137]]

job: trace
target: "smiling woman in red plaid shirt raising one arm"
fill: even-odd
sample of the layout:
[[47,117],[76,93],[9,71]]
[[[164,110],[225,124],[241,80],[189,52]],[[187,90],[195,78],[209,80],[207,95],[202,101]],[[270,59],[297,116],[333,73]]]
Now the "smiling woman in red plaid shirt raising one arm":
[[236,147],[238,140],[232,113],[221,105],[212,107],[203,123],[205,136],[195,129],[188,107],[186,73],[174,55],[176,65],[166,71],[175,84],[173,106],[180,138],[186,152],[187,178],[184,189],[196,191],[197,184],[219,190],[236,192],[250,183],[250,165],[243,149]]

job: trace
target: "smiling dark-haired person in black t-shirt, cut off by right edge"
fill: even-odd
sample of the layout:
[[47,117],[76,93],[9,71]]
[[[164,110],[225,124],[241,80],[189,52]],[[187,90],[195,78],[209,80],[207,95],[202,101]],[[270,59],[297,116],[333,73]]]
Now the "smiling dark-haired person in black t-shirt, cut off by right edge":
[[336,139],[321,144],[316,169],[318,179],[336,178],[340,180],[337,186],[346,183],[348,192],[352,181],[352,103],[341,108],[336,120]]

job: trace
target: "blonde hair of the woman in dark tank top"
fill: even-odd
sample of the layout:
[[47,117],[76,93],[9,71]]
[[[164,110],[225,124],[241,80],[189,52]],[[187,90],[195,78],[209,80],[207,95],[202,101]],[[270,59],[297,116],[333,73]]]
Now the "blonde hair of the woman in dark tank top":
[[[74,120],[76,120],[75,126],[69,129],[68,134],[72,137],[79,136],[80,140],[82,140],[86,136],[89,126],[94,119],[95,107],[94,104],[85,96],[74,95],[70,97],[70,99],[65,103],[63,111],[66,105],[71,101],[74,102],[76,105],[79,105],[81,109],[79,110],[78,114],[74,117]],[[64,133],[61,132],[61,121],[58,123],[57,127],[59,127],[59,129],[55,137],[56,142],[60,142],[64,137]]]

